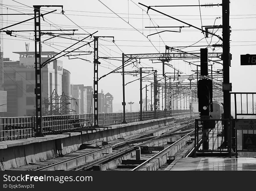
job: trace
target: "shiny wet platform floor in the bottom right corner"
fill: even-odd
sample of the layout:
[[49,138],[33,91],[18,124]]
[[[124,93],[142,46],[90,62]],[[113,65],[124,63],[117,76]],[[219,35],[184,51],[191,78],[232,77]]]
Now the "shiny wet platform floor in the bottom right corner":
[[170,170],[256,170],[256,158],[182,158]]

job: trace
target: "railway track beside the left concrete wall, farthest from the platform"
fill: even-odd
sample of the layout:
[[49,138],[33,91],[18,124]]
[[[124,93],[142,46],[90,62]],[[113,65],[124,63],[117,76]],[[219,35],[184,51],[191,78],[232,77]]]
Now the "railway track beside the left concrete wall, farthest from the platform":
[[[118,158],[126,153],[132,152],[136,146],[168,138],[173,135],[179,135],[177,131],[188,127],[194,123],[194,119],[180,122],[178,124],[172,124],[159,128],[157,130],[149,130],[141,135],[135,135],[129,137],[129,140],[115,140],[111,144],[104,145],[101,148],[91,148],[76,151],[74,153],[67,154],[64,157],[54,158],[52,160],[41,161],[38,163],[30,163],[25,167],[14,170],[86,170],[92,169],[94,165],[110,162],[115,158]],[[174,127],[177,128],[174,128]],[[164,133],[162,133],[164,132]],[[175,134],[171,134],[175,133]],[[157,135],[161,134],[161,135]],[[135,146],[131,146],[134,145]]]

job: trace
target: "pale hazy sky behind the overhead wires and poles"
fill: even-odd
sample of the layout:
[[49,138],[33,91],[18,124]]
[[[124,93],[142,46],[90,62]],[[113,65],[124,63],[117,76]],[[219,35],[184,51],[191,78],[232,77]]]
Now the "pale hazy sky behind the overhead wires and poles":
[[[254,0],[230,0],[230,26],[231,26],[231,50],[232,61],[230,67],[230,82],[232,82],[233,92],[256,92],[255,80],[255,67],[256,66],[240,66],[240,54],[256,54],[256,6]],[[108,6],[111,10],[117,13],[129,24],[134,26],[140,32],[132,28],[127,22],[123,21],[121,18],[113,14],[108,8],[106,8],[102,3],[97,0],[93,1],[67,1],[67,0],[19,0],[19,4],[12,0],[3,0],[3,13],[33,13],[33,5],[42,5],[42,4],[52,4],[63,5],[63,10],[65,15],[70,18],[75,24],[79,25],[83,30],[89,33],[98,31],[96,34],[98,36],[114,36],[115,44],[111,42],[111,38],[105,38],[104,40],[99,40],[99,56],[115,56],[120,57],[122,52],[125,54],[129,53],[157,53],[165,52],[165,45],[170,47],[177,46],[188,46],[198,40],[202,39],[204,35],[194,29],[194,28],[182,28],[181,33],[174,32],[164,32],[159,35],[152,35],[148,39],[145,37],[149,34],[155,33],[156,31],[151,28],[144,28],[145,26],[186,26],[178,21],[169,19],[166,16],[159,15],[158,13],[150,10],[149,16],[139,8],[138,2],[141,2],[146,5],[194,5],[198,4],[197,0],[183,0],[183,1],[152,1],[152,0],[102,0],[102,2]],[[128,6],[129,3],[129,6]],[[200,4],[205,3],[221,3],[221,0],[214,1],[200,1]],[[29,6],[29,7],[27,7]],[[13,10],[12,10],[13,9]],[[42,10],[51,11],[53,8],[42,8]],[[58,9],[57,13],[60,13],[61,9]],[[145,10],[145,8],[143,7]],[[193,24],[201,28],[200,12],[199,7],[167,7],[167,8],[156,8],[162,12],[181,19],[187,23]],[[16,10],[16,11],[15,11]],[[129,12],[128,12],[129,10]],[[42,11],[42,13],[44,13]],[[129,15],[128,15],[129,13]],[[222,14],[222,7],[212,7],[205,8],[201,7],[202,15],[202,25],[213,25],[216,17],[220,17]],[[65,15],[51,13],[45,15],[45,21],[41,21],[42,30],[46,29],[79,29],[75,33],[86,33],[81,28],[72,23]],[[29,15],[22,16],[4,16],[3,25],[10,25],[15,22],[19,22],[25,19],[30,18]],[[143,19],[142,19],[143,18]],[[150,19],[151,18],[151,19]],[[222,24],[222,19],[216,19],[215,25]],[[143,30],[142,30],[143,29]],[[8,28],[8,30],[33,30],[33,20]],[[168,29],[167,29],[168,30]],[[172,29],[171,29],[172,30]],[[175,29],[177,30],[177,29]],[[158,30],[161,31],[161,30]],[[33,32],[32,33],[16,33],[17,37],[10,37],[4,35],[4,57],[9,57],[12,60],[18,60],[19,55],[12,53],[13,51],[25,51],[25,43],[30,42],[30,51],[34,51],[34,42],[33,42]],[[95,34],[95,35],[96,35]],[[216,32],[218,35],[222,35],[222,29]],[[21,36],[19,36],[21,35]],[[74,35],[73,38],[81,39],[85,35]],[[45,40],[49,36],[43,36]],[[31,39],[31,40],[29,40]],[[154,44],[153,47],[150,41]],[[91,39],[93,40],[93,39]],[[107,40],[107,41],[106,41]],[[163,42],[163,41],[164,42]],[[88,41],[88,40],[86,40]],[[218,41],[218,38],[213,37],[207,38],[208,42],[214,44]],[[65,47],[70,46],[76,41],[68,40],[63,38],[54,38],[54,40],[47,41],[47,43],[42,45],[43,51],[56,51],[65,49]],[[221,42],[219,42],[221,43]],[[82,43],[79,43],[81,46]],[[195,45],[207,45],[207,42],[202,39]],[[93,46],[93,43],[91,44]],[[156,50],[157,49],[157,50]],[[89,46],[83,47],[81,50],[93,51]],[[200,47],[186,48],[182,49],[184,51],[197,51],[199,52]],[[212,50],[209,48],[209,52]],[[218,48],[216,49],[218,50]],[[222,52],[222,49],[219,49],[217,52]],[[63,67],[71,72],[71,82],[73,84],[84,84],[84,85],[93,85],[93,56],[79,56],[90,60],[91,63],[80,60],[72,59],[68,60],[67,57],[61,58],[63,60]],[[99,67],[99,76],[102,76],[111,70],[115,69],[115,66],[120,66],[121,61],[117,60],[100,60],[101,67]],[[141,60],[140,63],[143,67],[154,67],[158,70],[158,73],[161,74],[161,63],[152,64],[150,60]],[[191,74],[191,69],[195,67],[184,63],[182,60],[171,61],[170,64],[178,68],[186,74]],[[139,67],[141,67],[139,65]],[[191,68],[192,67],[192,68]],[[214,65],[214,70],[221,69],[221,65]],[[131,66],[127,67],[126,70],[132,70]],[[173,72],[172,69],[166,67],[166,72]],[[126,75],[126,82],[135,80],[136,77]],[[148,84],[143,82],[143,87]],[[122,109],[122,76],[121,74],[111,74],[105,78],[102,78],[99,81],[99,90],[103,90],[104,93],[110,92],[114,96],[114,111]],[[143,97],[145,97],[145,91],[143,92]],[[131,83],[126,86],[126,103],[129,101],[135,102],[133,109],[139,108],[139,81]],[[127,109],[129,105],[127,104]]]

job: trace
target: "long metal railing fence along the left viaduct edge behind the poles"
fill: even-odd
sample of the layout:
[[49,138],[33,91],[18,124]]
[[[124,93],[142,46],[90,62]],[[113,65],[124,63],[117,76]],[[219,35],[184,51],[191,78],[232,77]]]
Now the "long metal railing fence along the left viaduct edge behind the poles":
[[[173,110],[172,113],[187,113],[190,110]],[[164,111],[158,111],[159,118],[165,116]],[[143,111],[143,120],[154,119],[154,111]],[[170,111],[166,111],[166,117]],[[140,112],[125,114],[127,123],[137,122]],[[99,126],[122,124],[123,113],[99,113]],[[42,132],[44,135],[70,131],[78,128],[93,127],[93,114],[52,115],[42,117]],[[35,117],[0,117],[0,141],[31,138],[35,135]]]

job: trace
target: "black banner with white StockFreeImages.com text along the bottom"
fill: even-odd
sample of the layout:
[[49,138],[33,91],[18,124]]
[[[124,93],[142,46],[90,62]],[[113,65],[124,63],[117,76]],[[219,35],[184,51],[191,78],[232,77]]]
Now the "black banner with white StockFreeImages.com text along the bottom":
[[252,173],[254,172],[0,171],[0,190],[198,190],[204,186],[205,189],[215,186],[220,188],[222,184],[232,188],[235,180],[242,181],[246,178],[250,182],[254,177]]

